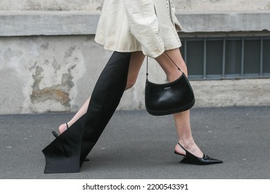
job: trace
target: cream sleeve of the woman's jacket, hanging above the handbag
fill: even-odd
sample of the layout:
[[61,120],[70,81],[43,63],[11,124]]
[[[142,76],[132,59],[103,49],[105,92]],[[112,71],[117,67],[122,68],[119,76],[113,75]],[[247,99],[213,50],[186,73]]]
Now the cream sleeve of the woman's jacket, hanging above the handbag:
[[143,54],[156,58],[164,52],[159,21],[152,0],[123,0],[129,29],[141,43]]

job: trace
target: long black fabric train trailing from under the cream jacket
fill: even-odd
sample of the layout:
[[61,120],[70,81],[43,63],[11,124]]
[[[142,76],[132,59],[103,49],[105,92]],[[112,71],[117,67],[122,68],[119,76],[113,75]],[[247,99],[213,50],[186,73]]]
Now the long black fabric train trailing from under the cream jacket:
[[87,113],[42,150],[46,159],[44,173],[80,172],[123,96],[130,57],[130,52],[111,55],[93,89]]

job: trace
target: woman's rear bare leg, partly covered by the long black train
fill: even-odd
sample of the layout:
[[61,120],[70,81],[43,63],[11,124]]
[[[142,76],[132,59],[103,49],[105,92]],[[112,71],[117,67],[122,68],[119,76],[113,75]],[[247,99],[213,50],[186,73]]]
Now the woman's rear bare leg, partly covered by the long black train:
[[[132,56],[130,58],[129,62],[129,72],[127,75],[127,85],[125,90],[128,90],[129,88],[132,88],[134,83],[136,82],[136,79],[138,77],[138,72],[141,69],[141,65],[143,64],[145,56],[143,55],[143,52],[132,52]],[[89,105],[91,96],[87,99],[87,101],[84,102],[80,110],[73,116],[73,118],[67,122],[69,127],[75,123],[82,115],[84,115],[87,112],[87,108]],[[60,134],[66,130],[66,123],[63,123],[62,125],[59,126],[58,128]]]

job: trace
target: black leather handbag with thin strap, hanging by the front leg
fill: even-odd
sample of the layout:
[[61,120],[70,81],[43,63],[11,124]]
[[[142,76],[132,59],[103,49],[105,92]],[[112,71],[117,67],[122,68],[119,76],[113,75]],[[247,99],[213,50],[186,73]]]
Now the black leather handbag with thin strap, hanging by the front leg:
[[[167,54],[165,52],[165,54]],[[167,54],[169,57],[169,55]],[[170,57],[169,57],[170,58]],[[174,63],[174,61],[170,58]],[[181,69],[177,66],[177,69]],[[182,71],[181,71],[182,72]],[[147,74],[145,83],[145,108],[152,115],[160,116],[183,112],[192,108],[195,104],[195,96],[186,75],[182,72],[181,77],[170,83],[152,83],[148,80],[148,57]]]

